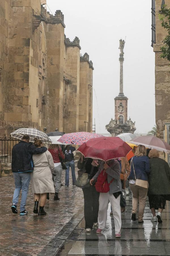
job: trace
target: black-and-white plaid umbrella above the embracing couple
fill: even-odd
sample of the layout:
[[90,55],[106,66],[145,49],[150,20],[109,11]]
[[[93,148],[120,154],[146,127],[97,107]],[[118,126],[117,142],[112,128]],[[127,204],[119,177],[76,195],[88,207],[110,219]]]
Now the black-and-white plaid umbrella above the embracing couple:
[[22,137],[24,135],[29,135],[30,137],[30,142],[34,141],[34,138],[40,139],[43,143],[46,144],[51,144],[52,141],[50,140],[50,138],[46,135],[46,133],[39,131],[35,128],[21,128],[18,129],[16,131],[14,131],[13,133],[10,134],[10,136],[14,139],[18,139],[18,140],[22,140]]

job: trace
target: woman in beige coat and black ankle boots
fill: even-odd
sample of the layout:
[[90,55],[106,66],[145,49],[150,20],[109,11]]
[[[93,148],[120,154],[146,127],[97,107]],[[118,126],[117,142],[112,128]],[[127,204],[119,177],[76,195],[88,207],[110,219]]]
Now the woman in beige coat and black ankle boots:
[[[35,138],[35,147],[40,148],[42,141]],[[52,181],[52,172],[54,171],[54,162],[51,153],[47,150],[42,154],[33,155],[34,170],[31,177],[32,192],[34,193],[35,207],[33,212],[38,215],[45,215],[44,205],[47,199],[47,193],[55,193]],[[38,203],[40,200],[40,208],[38,212]]]

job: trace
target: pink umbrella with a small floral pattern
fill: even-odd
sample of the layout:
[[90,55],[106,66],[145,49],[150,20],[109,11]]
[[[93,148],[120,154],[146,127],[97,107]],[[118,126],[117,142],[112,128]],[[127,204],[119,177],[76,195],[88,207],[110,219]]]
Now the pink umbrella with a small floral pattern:
[[97,133],[87,133],[87,132],[78,132],[78,133],[65,133],[59,142],[63,144],[73,144],[73,145],[82,145],[84,142],[89,141],[90,139],[103,137],[101,134]]

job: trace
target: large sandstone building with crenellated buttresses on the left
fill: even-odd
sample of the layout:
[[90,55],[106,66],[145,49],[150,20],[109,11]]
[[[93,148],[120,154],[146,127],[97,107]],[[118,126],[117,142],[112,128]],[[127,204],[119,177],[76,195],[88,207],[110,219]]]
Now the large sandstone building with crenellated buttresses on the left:
[[21,127],[92,132],[93,63],[41,0],[0,0],[0,136]]

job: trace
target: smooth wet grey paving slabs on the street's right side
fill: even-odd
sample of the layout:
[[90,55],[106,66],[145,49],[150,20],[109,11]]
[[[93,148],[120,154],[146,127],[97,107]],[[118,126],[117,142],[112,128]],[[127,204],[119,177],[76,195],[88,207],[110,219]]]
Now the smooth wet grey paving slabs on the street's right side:
[[114,220],[110,216],[110,205],[105,230],[96,234],[84,230],[84,219],[65,241],[58,256],[75,255],[170,255],[170,207],[167,202],[162,213],[163,223],[151,222],[152,216],[147,201],[144,223],[131,220],[132,196],[126,196],[126,212],[122,214],[122,236],[115,239]]

